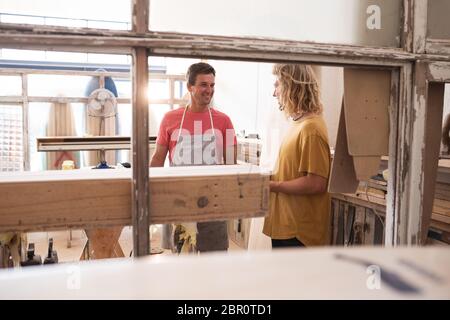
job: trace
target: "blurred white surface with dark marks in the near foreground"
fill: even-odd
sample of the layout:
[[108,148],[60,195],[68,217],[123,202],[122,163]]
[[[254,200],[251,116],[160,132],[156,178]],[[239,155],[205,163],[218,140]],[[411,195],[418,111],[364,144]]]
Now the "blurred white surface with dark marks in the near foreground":
[[[419,293],[381,281],[362,259]],[[450,249],[321,248],[151,256],[0,271],[0,299],[450,299]],[[79,288],[78,288],[79,286]]]

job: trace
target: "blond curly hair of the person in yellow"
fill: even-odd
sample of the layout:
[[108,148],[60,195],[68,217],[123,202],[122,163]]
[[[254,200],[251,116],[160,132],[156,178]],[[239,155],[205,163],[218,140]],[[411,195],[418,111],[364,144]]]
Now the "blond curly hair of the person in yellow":
[[280,86],[280,109],[287,116],[321,114],[319,85],[313,69],[303,64],[275,64],[272,73]]

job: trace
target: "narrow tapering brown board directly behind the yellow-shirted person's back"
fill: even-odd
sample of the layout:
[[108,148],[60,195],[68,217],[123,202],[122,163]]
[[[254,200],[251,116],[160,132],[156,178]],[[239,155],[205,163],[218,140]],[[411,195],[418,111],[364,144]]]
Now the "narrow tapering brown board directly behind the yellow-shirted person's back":
[[353,157],[348,152],[344,100],[342,100],[328,190],[332,193],[354,193],[358,188],[358,184],[359,181],[356,179],[353,166]]

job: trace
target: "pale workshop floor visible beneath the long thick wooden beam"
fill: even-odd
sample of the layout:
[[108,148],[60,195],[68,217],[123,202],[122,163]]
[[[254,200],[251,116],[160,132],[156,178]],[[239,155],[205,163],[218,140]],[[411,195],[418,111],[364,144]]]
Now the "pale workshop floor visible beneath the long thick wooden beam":
[[[161,249],[161,227],[152,226],[150,229],[150,247],[152,252],[160,254],[172,254],[170,250]],[[47,255],[48,241],[53,239],[53,248],[58,253],[59,262],[79,261],[82,255],[87,238],[83,230],[53,231],[53,232],[32,232],[27,234],[28,243],[35,244],[35,254],[40,255],[42,260]],[[124,227],[119,238],[119,244],[126,257],[132,254],[133,238],[132,227]],[[244,250],[234,241],[230,240],[229,250]]]

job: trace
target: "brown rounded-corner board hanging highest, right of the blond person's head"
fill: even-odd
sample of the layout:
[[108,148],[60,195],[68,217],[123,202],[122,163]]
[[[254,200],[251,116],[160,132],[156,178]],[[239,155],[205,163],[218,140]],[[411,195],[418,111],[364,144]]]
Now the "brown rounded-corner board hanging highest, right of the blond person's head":
[[390,70],[344,68],[344,111],[350,155],[388,154],[390,92]]

